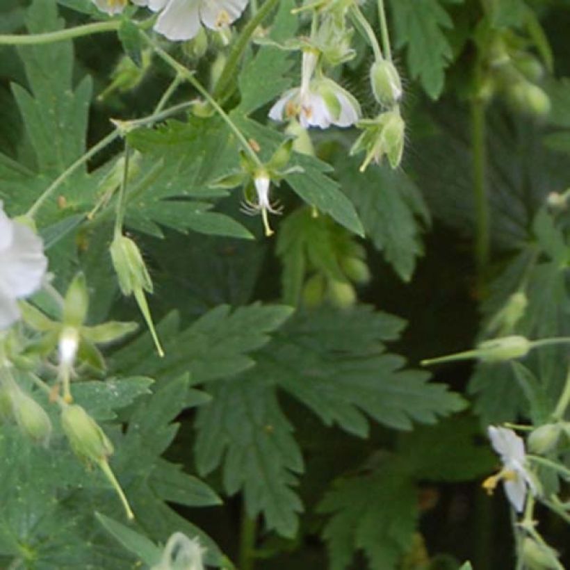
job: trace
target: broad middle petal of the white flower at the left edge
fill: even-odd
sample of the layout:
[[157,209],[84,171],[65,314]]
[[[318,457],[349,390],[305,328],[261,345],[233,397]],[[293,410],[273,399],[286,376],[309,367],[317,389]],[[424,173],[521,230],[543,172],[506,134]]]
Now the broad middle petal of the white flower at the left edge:
[[0,252],[0,288],[17,299],[37,291],[47,269],[42,240],[23,224],[13,222],[14,239]]

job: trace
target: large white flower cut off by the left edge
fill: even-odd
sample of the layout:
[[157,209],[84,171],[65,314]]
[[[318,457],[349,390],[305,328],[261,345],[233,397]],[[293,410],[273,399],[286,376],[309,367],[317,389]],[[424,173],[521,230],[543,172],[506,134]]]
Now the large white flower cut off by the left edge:
[[46,269],[42,240],[10,220],[0,202],[0,330],[18,320],[17,299],[38,291]]

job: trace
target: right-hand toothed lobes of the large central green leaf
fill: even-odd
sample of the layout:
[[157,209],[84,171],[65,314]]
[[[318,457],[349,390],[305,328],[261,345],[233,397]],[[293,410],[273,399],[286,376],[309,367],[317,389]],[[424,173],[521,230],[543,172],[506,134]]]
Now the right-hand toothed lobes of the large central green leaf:
[[398,338],[404,323],[370,307],[323,307],[299,313],[258,357],[264,377],[311,408],[326,425],[365,437],[366,415],[409,430],[434,423],[465,405],[428,373],[402,369],[405,359],[384,352],[383,341]]

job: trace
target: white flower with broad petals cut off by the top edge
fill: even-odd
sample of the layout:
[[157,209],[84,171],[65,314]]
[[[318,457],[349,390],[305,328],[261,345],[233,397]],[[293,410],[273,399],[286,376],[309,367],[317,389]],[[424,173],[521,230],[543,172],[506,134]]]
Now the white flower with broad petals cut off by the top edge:
[[191,40],[202,24],[220,30],[234,22],[247,6],[247,0],[133,0],[154,12],[162,10],[154,29],[169,40]]

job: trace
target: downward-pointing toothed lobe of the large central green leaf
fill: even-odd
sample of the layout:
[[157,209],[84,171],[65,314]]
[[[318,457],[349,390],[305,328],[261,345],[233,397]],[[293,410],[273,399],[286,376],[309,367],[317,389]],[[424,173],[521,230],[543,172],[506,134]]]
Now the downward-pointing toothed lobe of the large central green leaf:
[[303,469],[293,430],[275,389],[254,374],[217,382],[211,405],[197,418],[196,462],[201,475],[223,462],[225,491],[243,491],[247,514],[262,513],[268,530],[293,537],[302,504],[291,487]]

